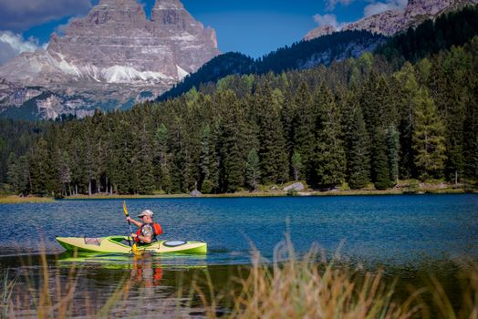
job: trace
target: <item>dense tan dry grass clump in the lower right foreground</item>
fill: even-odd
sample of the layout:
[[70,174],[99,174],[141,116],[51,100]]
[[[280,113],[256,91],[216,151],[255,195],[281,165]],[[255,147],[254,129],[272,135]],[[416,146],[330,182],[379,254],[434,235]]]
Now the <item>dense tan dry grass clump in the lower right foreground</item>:
[[[404,300],[395,283],[381,272],[354,272],[328,261],[312,249],[297,258],[290,241],[275,249],[272,266],[254,253],[251,273],[239,279],[243,289],[234,295],[234,318],[451,318],[478,319],[478,272],[465,273],[462,305],[455,310],[436,279],[415,289]],[[286,262],[281,262],[286,259]],[[456,307],[455,307],[456,308]]]

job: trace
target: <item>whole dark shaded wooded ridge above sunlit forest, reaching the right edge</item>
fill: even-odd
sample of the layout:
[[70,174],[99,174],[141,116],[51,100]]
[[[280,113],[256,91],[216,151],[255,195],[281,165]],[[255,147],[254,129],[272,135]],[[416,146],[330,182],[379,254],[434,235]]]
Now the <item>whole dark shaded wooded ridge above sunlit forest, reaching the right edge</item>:
[[297,42],[257,60],[239,53],[226,53],[214,57],[197,72],[185,77],[181,83],[161,95],[159,100],[179,97],[192,87],[198,90],[210,87],[210,84],[215,85],[220,78],[230,75],[279,74],[319,64],[328,66],[336,59],[356,57],[350,50],[372,50],[379,44],[375,53],[387,57],[398,70],[405,61],[416,62],[451,46],[462,46],[477,35],[478,5],[474,5],[441,15],[435,21],[427,20],[416,28],[410,27],[406,33],[392,36],[386,43],[383,43],[386,39],[384,36],[367,31],[344,31]]

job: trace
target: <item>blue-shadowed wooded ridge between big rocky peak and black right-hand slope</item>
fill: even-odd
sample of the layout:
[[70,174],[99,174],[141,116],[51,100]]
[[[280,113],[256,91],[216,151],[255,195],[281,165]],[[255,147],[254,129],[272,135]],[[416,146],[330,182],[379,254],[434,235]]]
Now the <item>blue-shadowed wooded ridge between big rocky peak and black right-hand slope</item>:
[[207,83],[215,83],[226,76],[267,72],[277,74],[292,69],[316,67],[320,64],[328,66],[334,61],[359,57],[364,52],[373,51],[383,44],[385,39],[385,36],[353,30],[320,36],[311,41],[300,41],[292,46],[281,47],[256,60],[240,53],[226,53],[214,57],[197,72],[184,77],[182,82],[162,94],[159,100],[178,97],[192,87],[199,88]]

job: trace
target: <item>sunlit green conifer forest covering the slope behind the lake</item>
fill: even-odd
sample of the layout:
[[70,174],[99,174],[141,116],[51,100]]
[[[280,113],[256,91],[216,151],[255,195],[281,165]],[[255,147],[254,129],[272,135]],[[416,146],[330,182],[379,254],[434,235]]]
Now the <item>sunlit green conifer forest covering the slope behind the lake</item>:
[[398,71],[365,54],[328,68],[225,77],[210,94],[58,122],[8,176],[17,193],[39,194],[477,180],[477,72],[474,37]]

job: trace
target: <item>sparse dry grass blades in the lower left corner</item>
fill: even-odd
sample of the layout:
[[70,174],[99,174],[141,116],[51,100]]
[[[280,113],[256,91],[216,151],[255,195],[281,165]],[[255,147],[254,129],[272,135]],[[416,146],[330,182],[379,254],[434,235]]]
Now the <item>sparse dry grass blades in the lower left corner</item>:
[[[129,292],[129,283],[120,283],[106,303],[98,306],[94,297],[77,290],[81,272],[77,267],[69,268],[67,278],[62,280],[59,273],[50,273],[51,264],[47,262],[46,252],[39,257],[40,273],[26,272],[20,275],[9,268],[3,270],[0,279],[0,318],[71,318],[78,314],[91,318],[107,317],[109,311],[124,300]],[[22,261],[22,268],[28,269],[32,264],[31,260]],[[21,284],[18,283],[19,279],[22,280]],[[79,294],[82,297],[80,299],[84,300],[83,304],[75,300]]]

